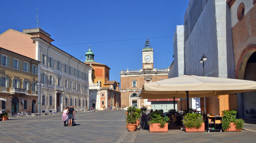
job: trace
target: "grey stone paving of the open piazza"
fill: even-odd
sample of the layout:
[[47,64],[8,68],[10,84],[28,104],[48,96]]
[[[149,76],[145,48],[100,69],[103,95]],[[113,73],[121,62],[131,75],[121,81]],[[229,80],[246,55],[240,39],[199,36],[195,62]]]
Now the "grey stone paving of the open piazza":
[[125,111],[76,113],[77,126],[65,127],[61,114],[20,117],[0,122],[0,142],[256,142],[256,133],[128,132]]

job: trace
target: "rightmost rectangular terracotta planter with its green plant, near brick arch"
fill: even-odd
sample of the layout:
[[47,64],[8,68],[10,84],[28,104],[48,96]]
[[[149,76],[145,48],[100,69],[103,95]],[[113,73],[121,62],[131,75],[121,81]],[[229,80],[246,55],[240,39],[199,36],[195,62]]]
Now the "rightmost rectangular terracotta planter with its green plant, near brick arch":
[[236,110],[222,111],[222,130],[224,131],[241,131],[243,128],[243,119],[236,119]]

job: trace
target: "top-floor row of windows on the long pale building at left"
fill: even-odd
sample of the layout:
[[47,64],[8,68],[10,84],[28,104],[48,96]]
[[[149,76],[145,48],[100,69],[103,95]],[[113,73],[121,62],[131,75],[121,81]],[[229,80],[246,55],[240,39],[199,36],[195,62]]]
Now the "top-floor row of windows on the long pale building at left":
[[[43,65],[46,65],[46,55],[45,54],[42,54],[41,62]],[[54,67],[54,59],[52,57],[49,57],[48,62],[49,62],[48,66],[52,67],[54,69],[55,68]],[[56,64],[57,64],[56,69],[59,71],[62,71],[62,62],[57,60]],[[88,80],[88,74],[86,74],[80,70],[77,70],[75,67],[68,66],[68,64],[63,64],[63,71],[64,71],[64,73],[71,74],[75,77],[79,77],[80,79]]]

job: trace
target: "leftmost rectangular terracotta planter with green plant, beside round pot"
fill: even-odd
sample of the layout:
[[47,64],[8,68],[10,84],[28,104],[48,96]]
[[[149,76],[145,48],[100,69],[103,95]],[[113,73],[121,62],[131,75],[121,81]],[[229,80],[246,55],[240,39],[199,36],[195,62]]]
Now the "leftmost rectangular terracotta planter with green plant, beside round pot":
[[149,132],[168,132],[168,116],[162,117],[161,111],[153,111],[150,114]]

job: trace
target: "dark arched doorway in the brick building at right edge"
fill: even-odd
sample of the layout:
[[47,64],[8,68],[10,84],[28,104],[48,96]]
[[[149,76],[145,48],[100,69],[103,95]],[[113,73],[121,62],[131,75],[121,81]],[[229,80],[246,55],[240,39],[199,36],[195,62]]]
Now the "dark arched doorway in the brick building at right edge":
[[[249,57],[246,63],[245,74],[243,76],[243,79],[256,81],[255,73],[256,73],[256,52],[254,52],[251,55],[251,57]],[[250,117],[249,114],[247,113],[250,113],[251,109],[255,110],[255,108],[256,108],[256,91],[243,93],[243,110],[244,110],[243,116]]]

